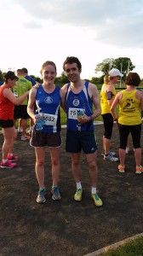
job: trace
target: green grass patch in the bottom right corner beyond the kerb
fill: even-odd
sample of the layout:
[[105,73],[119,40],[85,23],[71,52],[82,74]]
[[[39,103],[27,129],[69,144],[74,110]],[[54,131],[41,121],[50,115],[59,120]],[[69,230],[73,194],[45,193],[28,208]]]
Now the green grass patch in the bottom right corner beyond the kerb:
[[100,256],[143,256],[143,236],[135,240],[126,242],[123,246],[116,249],[110,249],[107,253],[101,253]]

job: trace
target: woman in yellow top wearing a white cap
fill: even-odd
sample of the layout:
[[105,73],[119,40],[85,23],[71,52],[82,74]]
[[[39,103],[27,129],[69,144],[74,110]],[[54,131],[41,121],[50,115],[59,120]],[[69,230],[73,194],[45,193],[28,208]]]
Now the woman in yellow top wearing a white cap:
[[103,118],[104,124],[104,135],[103,135],[103,155],[104,160],[109,160],[116,162],[118,160],[115,157],[115,153],[110,151],[110,143],[112,138],[112,127],[113,127],[113,118],[111,113],[112,102],[116,96],[116,90],[114,84],[117,80],[123,77],[123,74],[117,68],[112,68],[109,74],[104,79],[104,84],[102,85],[100,91],[100,107],[101,115]]

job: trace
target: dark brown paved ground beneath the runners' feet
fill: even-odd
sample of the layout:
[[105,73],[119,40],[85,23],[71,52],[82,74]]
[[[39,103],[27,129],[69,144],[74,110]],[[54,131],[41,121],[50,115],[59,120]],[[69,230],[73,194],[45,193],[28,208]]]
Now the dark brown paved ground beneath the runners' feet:
[[[89,173],[82,156],[83,201],[73,200],[75,183],[71,160],[65,153],[66,130],[61,148],[61,201],[50,195],[51,166],[47,149],[45,181],[49,196],[38,205],[35,154],[29,142],[14,143],[18,167],[0,169],[0,256],[83,256],[123,241],[143,231],[143,173],[135,174],[134,151],[126,158],[126,172],[117,172],[118,163],[105,162],[100,155],[103,125],[95,125],[98,141],[98,193],[103,207],[90,198]],[[3,135],[0,135],[3,143]],[[141,146],[143,140],[141,138]],[[112,150],[117,152],[119,137],[115,125]]]

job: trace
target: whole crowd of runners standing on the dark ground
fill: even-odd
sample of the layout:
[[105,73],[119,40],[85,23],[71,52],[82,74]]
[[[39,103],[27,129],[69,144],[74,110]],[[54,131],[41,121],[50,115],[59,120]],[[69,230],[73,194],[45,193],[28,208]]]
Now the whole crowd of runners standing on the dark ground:
[[[113,68],[106,75],[99,94],[95,84],[81,79],[82,64],[77,57],[67,57],[63,69],[69,83],[62,87],[54,84],[57,71],[53,61],[45,61],[41,67],[43,84],[36,84],[36,81],[28,76],[26,68],[17,70],[16,75],[11,71],[6,73],[4,84],[0,87],[0,125],[4,137],[1,167],[13,168],[19,159],[13,154],[13,148],[16,138],[14,124],[16,119],[20,119],[18,132],[21,127],[21,140],[30,140],[31,147],[35,149],[35,171],[39,187],[37,203],[46,201],[44,180],[46,147],[49,148],[52,166],[52,199],[60,200],[61,107],[66,112],[66,152],[71,155],[72,174],[76,183],[74,200],[82,201],[83,198],[80,164],[83,151],[89,169],[91,198],[96,207],[101,207],[103,202],[97,194],[98,166],[94,119],[100,114],[103,118],[105,128],[102,139],[103,159],[118,161],[115,152],[110,150],[113,123],[116,122],[120,135],[118,171],[125,172],[125,149],[131,133],[136,162],[135,172],[137,174],[143,172],[140,164],[140,111],[143,111],[143,92],[136,90],[140,84],[140,77],[137,73],[129,73],[125,81],[127,89],[116,93],[114,84],[123,77],[123,74],[117,68]],[[117,117],[115,108],[118,104]],[[31,137],[26,135],[27,119],[31,119]],[[38,129],[40,122],[43,122],[43,125]]]

